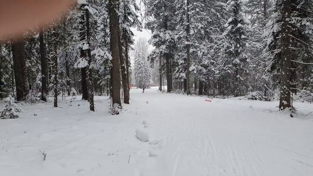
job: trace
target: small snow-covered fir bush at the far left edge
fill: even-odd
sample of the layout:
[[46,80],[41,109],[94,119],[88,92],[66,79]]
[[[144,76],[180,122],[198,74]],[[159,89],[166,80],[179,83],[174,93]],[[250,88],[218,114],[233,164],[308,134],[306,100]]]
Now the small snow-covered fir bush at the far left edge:
[[9,103],[5,105],[4,109],[0,111],[0,119],[4,118],[18,118],[17,112],[22,112],[18,105],[14,103],[14,98],[9,95]]

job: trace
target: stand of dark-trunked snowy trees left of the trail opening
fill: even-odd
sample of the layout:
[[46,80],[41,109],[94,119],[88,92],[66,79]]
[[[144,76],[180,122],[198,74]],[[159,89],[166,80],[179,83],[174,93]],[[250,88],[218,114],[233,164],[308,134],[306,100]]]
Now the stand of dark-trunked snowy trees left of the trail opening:
[[[94,93],[112,97],[112,113],[129,104],[131,27],[141,30],[135,0],[73,0],[73,5],[45,27],[0,41],[1,97],[17,101],[78,91],[94,111]],[[39,58],[39,59],[38,59]]]

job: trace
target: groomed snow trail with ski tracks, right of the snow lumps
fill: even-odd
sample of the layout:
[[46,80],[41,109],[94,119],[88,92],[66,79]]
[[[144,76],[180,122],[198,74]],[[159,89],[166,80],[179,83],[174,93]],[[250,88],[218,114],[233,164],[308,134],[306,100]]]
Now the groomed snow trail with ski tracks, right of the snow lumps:
[[138,113],[164,137],[142,176],[313,175],[313,121],[277,112],[277,102],[205,102],[153,89],[133,96],[149,102]]

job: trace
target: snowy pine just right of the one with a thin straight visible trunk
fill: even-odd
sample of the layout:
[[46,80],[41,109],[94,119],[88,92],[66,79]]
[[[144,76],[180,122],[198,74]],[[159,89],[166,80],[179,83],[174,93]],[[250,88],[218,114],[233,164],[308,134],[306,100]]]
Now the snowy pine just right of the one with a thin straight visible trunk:
[[[223,95],[227,88],[228,76],[224,74],[224,60],[227,58],[224,53],[226,45],[224,24],[227,22],[229,13],[226,11],[227,4],[224,0],[205,1],[204,12],[207,15],[207,28],[204,31],[205,40],[203,46],[205,52],[198,60],[197,77],[199,78],[199,94],[215,96],[216,93]],[[210,7],[210,8],[208,8]],[[208,89],[209,87],[209,89]],[[209,91],[211,90],[211,92]]]

